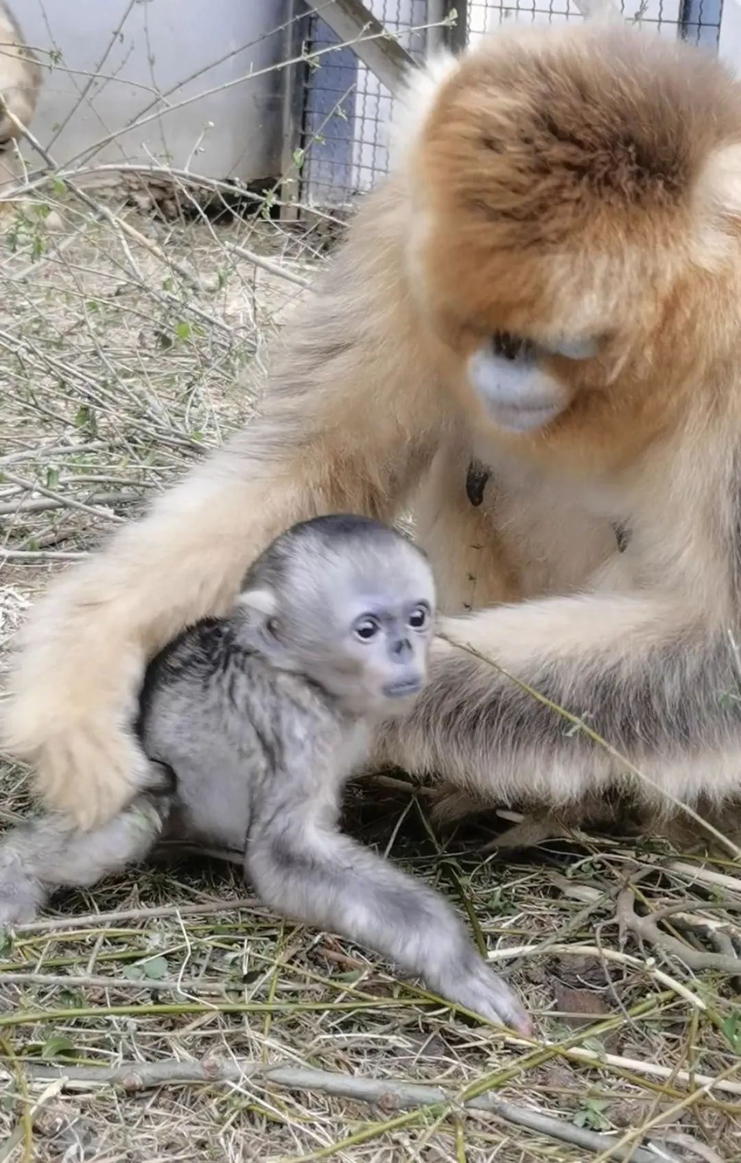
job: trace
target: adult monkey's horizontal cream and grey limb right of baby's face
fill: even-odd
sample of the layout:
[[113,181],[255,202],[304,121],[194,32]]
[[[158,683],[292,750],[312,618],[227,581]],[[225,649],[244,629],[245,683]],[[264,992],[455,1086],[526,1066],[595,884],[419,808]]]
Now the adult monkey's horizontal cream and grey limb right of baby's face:
[[735,658],[721,616],[712,625],[677,593],[641,591],[442,619],[446,637],[477,654],[436,641],[430,683],[406,719],[384,728],[378,758],[499,804],[558,808],[613,784],[649,805],[665,794],[692,805],[708,789],[736,795],[739,711],[722,698]]

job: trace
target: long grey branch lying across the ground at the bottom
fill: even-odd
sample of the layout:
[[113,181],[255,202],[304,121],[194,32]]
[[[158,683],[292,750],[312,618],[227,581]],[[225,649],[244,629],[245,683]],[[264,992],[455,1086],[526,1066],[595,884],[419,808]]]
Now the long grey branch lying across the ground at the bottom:
[[[451,1101],[451,1094],[439,1086],[426,1086],[386,1078],[357,1078],[352,1075],[335,1073],[329,1070],[311,1070],[306,1066],[263,1066],[250,1059],[219,1062],[129,1062],[112,1069],[97,1066],[44,1066],[23,1063],[24,1070],[38,1079],[60,1080],[64,1090],[94,1090],[97,1086],[120,1086],[127,1091],[151,1090],[157,1086],[173,1086],[191,1083],[214,1083],[237,1085],[245,1079],[259,1079],[287,1090],[319,1091],[336,1098],[349,1098],[359,1103],[372,1103],[385,1113],[422,1106],[440,1106]],[[526,1127],[537,1134],[560,1142],[571,1143],[584,1150],[599,1154],[610,1151],[614,1140],[608,1135],[575,1127],[563,1119],[556,1119],[542,1111],[535,1111],[515,1103],[506,1103],[493,1094],[482,1094],[463,1104],[463,1110],[485,1111],[505,1122]],[[632,1163],[656,1163],[653,1151],[643,1148],[621,1148],[612,1156]]]

